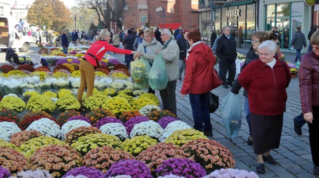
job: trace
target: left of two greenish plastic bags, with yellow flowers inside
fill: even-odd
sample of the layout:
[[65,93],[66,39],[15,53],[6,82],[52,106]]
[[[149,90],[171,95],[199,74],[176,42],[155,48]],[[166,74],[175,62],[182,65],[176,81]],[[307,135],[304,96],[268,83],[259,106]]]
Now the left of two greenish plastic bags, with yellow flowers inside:
[[150,63],[143,56],[131,62],[131,75],[135,85],[140,89],[149,88]]

